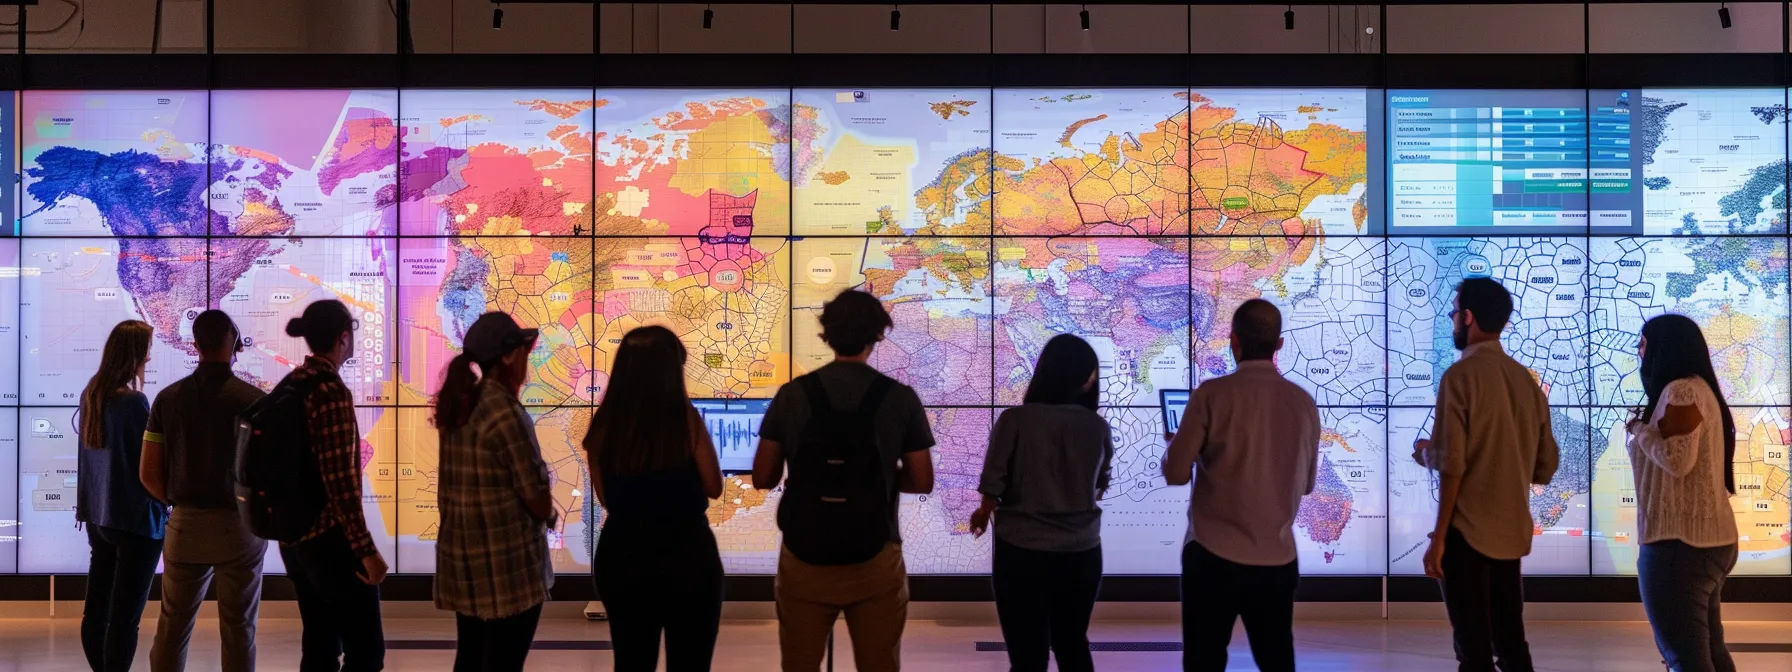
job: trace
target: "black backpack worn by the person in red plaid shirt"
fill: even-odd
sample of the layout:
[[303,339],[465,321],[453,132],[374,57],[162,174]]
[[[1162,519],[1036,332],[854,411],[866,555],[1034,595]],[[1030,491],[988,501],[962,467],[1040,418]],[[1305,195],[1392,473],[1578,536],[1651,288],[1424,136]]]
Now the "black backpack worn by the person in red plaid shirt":
[[305,398],[330,375],[281,380],[237,416],[237,511],[254,536],[299,541],[324,511]]

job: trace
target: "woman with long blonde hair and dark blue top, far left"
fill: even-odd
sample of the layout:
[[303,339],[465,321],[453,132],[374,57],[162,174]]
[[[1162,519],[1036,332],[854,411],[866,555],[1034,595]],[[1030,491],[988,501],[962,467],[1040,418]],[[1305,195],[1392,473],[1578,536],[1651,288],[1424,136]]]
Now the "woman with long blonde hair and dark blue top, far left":
[[75,521],[88,530],[88,599],[81,611],[81,650],[95,672],[129,670],[149,584],[161,561],[168,507],[138,480],[149,398],[143,369],[154,328],[127,319],[113,326],[100,369],[81,391],[75,453]]

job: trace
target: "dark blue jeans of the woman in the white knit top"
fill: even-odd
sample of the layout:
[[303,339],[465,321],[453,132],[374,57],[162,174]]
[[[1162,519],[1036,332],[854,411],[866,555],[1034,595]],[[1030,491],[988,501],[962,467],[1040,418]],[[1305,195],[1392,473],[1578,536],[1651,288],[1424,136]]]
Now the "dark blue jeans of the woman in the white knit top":
[[1724,645],[1724,579],[1736,566],[1736,545],[1645,543],[1636,557],[1643,611],[1656,649],[1674,672],[1735,672]]

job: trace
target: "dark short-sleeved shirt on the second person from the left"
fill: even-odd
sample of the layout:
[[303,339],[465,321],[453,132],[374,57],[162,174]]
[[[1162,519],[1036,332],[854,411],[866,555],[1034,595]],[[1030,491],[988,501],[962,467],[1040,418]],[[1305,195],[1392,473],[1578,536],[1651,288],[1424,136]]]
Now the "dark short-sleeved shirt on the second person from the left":
[[199,364],[156,394],[145,434],[161,441],[170,504],[237,507],[237,414],[262,396],[220,362]]

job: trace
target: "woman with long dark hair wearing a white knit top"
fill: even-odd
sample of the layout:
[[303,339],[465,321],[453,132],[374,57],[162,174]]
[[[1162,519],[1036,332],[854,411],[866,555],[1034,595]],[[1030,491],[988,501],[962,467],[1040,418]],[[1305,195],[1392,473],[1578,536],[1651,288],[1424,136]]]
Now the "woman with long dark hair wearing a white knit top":
[[1724,647],[1724,579],[1736,566],[1736,421],[1699,324],[1643,323],[1643,405],[1629,421],[1643,611],[1674,672],[1735,670]]

